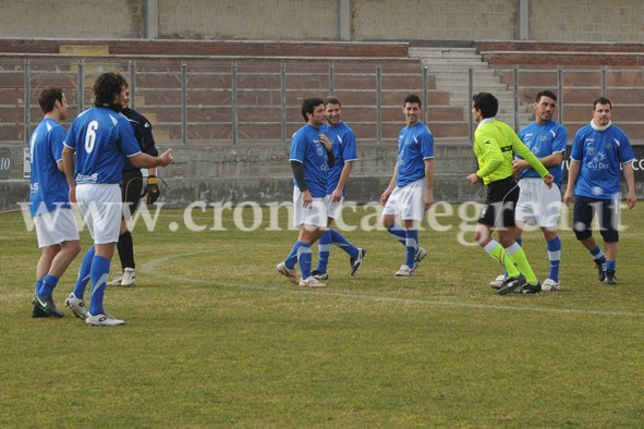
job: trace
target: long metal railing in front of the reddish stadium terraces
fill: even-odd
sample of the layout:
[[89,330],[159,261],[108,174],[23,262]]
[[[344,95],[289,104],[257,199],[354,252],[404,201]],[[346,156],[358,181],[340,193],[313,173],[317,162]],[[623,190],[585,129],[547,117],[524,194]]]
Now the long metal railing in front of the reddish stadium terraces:
[[[158,144],[282,144],[302,125],[303,98],[340,97],[344,118],[361,142],[397,139],[403,123],[404,96],[421,96],[425,122],[437,140],[467,142],[474,130],[472,94],[495,93],[499,119],[515,130],[532,120],[534,95],[559,96],[558,121],[574,131],[591,120],[592,102],[606,96],[613,121],[633,143],[644,140],[644,71],[642,68],[496,70],[490,90],[473,70],[454,69],[453,87],[441,87],[430,66],[404,59],[219,59],[198,60],[86,58],[61,56],[2,58],[0,66],[0,138],[3,145],[27,144],[41,112],[45,86],[62,87],[70,102],[68,124],[92,105],[92,84],[106,71],[124,74],[132,107],[150,119]],[[445,72],[445,69],[441,69]]]

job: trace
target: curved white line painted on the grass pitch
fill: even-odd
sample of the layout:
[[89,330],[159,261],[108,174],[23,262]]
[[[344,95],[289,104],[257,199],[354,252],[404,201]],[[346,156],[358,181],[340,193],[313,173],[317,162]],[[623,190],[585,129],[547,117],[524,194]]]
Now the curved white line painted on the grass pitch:
[[476,308],[476,309],[494,309],[494,310],[513,310],[513,311],[535,311],[535,312],[555,312],[560,315],[594,315],[594,316],[619,316],[619,317],[644,317],[643,312],[630,312],[630,311],[600,311],[600,310],[579,310],[574,308],[540,308],[540,307],[519,307],[510,305],[495,305],[495,304],[476,304],[476,303],[458,303],[451,301],[427,301],[427,299],[412,299],[412,298],[397,298],[391,296],[374,296],[374,295],[352,295],[337,292],[329,292],[328,290],[313,291],[309,289],[297,287],[297,289],[282,289],[282,287],[269,287],[254,284],[236,284],[236,283],[223,283],[212,282],[210,280],[191,279],[182,275],[173,275],[165,272],[160,272],[158,267],[163,262],[178,259],[182,257],[190,257],[205,253],[212,253],[212,249],[191,252],[186,254],[170,255],[163,258],[154,259],[139,267],[142,273],[159,277],[163,279],[170,279],[177,282],[193,283],[193,284],[210,284],[219,287],[228,289],[240,289],[246,291],[263,291],[263,292],[278,292],[278,293],[290,293],[290,294],[314,294],[316,296],[333,296],[352,299],[364,299],[374,301],[381,303],[399,303],[399,304],[417,304],[428,306],[442,306],[453,308]]

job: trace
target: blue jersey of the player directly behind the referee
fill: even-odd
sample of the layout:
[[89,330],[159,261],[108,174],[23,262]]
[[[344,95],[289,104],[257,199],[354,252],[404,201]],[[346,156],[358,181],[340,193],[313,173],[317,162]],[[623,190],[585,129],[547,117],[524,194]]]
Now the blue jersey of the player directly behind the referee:
[[[548,121],[543,124],[533,122],[521,130],[519,138],[539,159],[552,154],[566,154],[566,147],[568,146],[568,132],[557,121]],[[548,171],[552,174],[555,183],[559,187],[561,187],[563,177],[561,169],[561,164],[548,167]],[[520,177],[540,179],[542,176],[535,169],[527,168],[521,172]]]

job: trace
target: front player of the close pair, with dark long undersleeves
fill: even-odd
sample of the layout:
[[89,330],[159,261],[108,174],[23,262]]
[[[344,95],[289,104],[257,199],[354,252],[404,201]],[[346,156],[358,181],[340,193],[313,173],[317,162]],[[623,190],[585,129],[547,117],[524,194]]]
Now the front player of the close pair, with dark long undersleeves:
[[[300,228],[297,241],[277,271],[292,283],[306,287],[325,287],[311,271],[311,246],[327,230],[328,170],[333,167],[333,148],[320,127],[326,122],[325,101],[307,98],[302,103],[302,118],[306,122],[291,137],[291,169],[293,170],[293,224]],[[300,263],[297,280],[295,263]]]

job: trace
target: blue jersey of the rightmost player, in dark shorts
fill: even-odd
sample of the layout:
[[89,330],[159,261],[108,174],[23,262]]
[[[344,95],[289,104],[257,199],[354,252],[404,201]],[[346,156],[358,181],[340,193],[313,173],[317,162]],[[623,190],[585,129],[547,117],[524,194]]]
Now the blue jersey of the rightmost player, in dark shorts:
[[621,163],[634,161],[635,154],[629,137],[617,126],[596,131],[586,125],[576,132],[570,158],[580,162],[574,195],[612,199],[621,189]]

